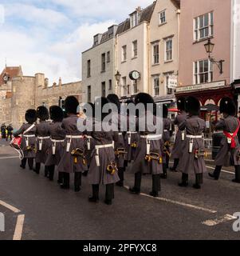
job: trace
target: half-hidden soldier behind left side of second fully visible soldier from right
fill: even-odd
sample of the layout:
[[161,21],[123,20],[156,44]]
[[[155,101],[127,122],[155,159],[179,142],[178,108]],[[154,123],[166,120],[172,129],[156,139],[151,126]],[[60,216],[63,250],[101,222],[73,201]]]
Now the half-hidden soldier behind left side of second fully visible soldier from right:
[[174,165],[170,168],[171,171],[176,171],[177,166],[179,165],[179,158],[182,154],[183,141],[185,139],[185,131],[179,130],[179,125],[184,122],[187,118],[186,107],[185,107],[185,98],[181,97],[177,100],[177,106],[180,113],[175,118],[175,126],[178,126],[178,131],[175,137],[175,144],[171,151],[171,158],[174,159]]

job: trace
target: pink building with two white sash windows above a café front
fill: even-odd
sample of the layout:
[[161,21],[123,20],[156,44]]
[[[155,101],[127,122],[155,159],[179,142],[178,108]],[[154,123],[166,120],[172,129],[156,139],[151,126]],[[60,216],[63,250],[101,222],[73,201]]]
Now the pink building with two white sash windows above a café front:
[[[234,97],[233,0],[181,0],[179,86],[176,96],[192,95],[202,106],[218,105],[222,97]],[[224,60],[222,74],[208,58],[205,44],[214,43],[210,54]]]

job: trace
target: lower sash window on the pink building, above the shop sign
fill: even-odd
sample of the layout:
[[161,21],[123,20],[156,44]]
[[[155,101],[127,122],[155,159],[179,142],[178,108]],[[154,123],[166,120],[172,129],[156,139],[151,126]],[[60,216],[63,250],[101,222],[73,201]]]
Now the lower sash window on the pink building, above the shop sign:
[[213,81],[213,64],[210,60],[194,63],[194,84],[201,84]]

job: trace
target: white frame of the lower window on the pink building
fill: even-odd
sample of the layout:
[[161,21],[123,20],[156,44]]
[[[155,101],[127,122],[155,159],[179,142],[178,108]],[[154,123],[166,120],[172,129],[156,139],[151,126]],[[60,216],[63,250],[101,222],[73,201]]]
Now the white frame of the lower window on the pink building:
[[[200,62],[203,62],[203,72],[200,72]],[[208,62],[208,70],[205,71],[204,65],[205,62]],[[207,80],[204,78],[203,82],[201,82],[201,75],[204,76],[204,74],[208,74]],[[202,83],[207,83],[207,82],[213,82],[213,75],[214,75],[214,70],[213,70],[213,63],[210,62],[209,59],[202,59],[196,62],[193,62],[193,84],[194,85],[199,85]]]

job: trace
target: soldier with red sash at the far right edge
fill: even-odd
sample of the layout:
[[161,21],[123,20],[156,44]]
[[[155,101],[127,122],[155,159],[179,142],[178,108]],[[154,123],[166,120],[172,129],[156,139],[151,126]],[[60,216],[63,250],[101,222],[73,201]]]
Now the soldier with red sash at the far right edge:
[[231,98],[222,98],[220,112],[223,118],[216,125],[216,130],[223,130],[225,138],[222,138],[221,148],[215,159],[216,168],[211,178],[218,180],[222,166],[235,166],[235,178],[233,182],[240,183],[240,145],[238,130],[240,122],[236,116],[237,108]]

